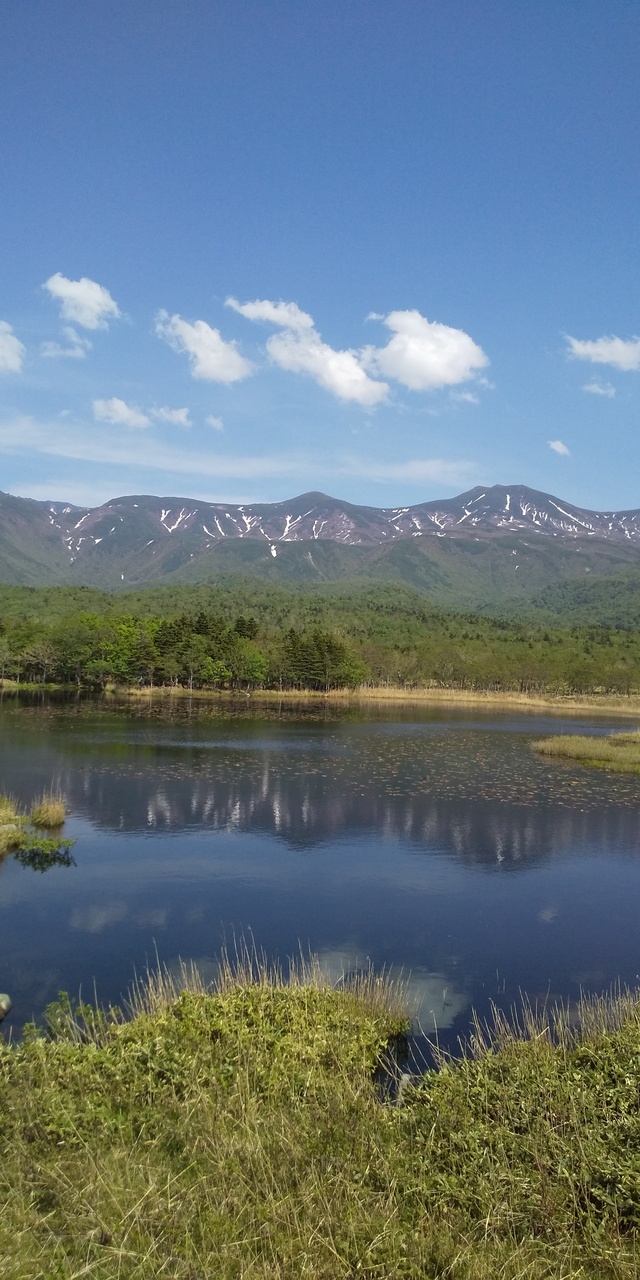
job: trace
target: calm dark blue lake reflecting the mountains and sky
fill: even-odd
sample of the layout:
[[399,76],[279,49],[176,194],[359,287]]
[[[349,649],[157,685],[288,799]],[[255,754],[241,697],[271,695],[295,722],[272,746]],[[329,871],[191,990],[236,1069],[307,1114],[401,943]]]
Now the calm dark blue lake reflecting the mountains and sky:
[[74,865],[0,863],[3,1034],[60,989],[118,1002],[155,957],[224,941],[403,972],[453,1046],[492,1001],[640,973],[640,777],[530,749],[616,717],[397,704],[0,704],[0,778],[61,788]]

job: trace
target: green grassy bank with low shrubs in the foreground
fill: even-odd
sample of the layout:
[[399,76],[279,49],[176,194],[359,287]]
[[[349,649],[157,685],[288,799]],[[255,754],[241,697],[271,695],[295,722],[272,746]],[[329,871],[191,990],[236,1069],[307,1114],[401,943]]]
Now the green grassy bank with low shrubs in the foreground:
[[497,1025],[393,1106],[384,983],[186,986],[0,1047],[5,1280],[637,1276],[636,996]]

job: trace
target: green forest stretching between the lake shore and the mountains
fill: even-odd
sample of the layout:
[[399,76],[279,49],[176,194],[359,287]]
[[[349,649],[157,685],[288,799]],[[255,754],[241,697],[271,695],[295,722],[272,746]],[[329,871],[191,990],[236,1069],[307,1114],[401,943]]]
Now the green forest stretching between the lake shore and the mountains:
[[443,613],[393,586],[256,581],[108,595],[0,588],[0,676],[20,685],[548,694],[640,690],[640,632]]

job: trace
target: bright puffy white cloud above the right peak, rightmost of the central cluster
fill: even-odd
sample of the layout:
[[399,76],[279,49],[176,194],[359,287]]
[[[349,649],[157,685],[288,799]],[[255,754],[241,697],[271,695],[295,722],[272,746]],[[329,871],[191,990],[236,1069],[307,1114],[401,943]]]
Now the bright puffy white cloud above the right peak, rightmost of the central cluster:
[[393,338],[385,347],[365,347],[362,362],[410,390],[426,392],[465,383],[489,364],[483,348],[467,333],[428,320],[420,311],[390,311],[384,323]]

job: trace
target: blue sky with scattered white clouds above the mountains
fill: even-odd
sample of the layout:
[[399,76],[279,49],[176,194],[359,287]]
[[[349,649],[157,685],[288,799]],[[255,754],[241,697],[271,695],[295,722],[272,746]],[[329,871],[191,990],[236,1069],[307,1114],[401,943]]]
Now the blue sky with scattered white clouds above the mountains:
[[640,506],[630,0],[10,0],[0,488]]

